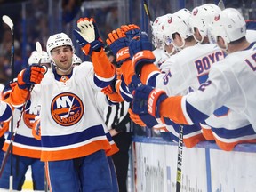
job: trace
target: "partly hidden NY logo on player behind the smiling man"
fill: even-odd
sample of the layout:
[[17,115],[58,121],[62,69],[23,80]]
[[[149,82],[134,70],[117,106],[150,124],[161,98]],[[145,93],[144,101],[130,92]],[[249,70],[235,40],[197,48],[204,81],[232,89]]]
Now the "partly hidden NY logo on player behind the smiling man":
[[32,129],[33,124],[35,123],[35,117],[38,114],[38,112],[39,111],[36,108],[36,106],[31,106],[31,101],[28,100],[23,113],[23,121],[28,128]]

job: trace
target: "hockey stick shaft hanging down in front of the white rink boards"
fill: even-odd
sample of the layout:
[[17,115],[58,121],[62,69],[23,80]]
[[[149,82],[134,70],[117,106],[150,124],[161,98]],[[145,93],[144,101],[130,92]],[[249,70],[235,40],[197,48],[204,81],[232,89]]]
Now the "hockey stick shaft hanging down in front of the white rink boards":
[[183,125],[180,124],[179,142],[178,142],[177,175],[176,175],[176,192],[180,192],[181,190],[182,153],[183,153]]

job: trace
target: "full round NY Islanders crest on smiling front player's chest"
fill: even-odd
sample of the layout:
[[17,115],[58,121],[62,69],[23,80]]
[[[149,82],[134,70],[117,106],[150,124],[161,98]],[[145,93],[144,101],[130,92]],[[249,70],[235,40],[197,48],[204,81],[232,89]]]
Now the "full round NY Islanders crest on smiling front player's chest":
[[84,105],[75,94],[63,92],[52,100],[51,114],[57,124],[71,126],[82,118]]

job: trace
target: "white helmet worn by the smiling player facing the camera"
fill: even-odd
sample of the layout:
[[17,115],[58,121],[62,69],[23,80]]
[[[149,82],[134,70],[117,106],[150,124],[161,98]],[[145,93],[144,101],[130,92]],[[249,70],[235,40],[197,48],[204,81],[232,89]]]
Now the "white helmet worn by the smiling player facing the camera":
[[75,53],[75,48],[72,43],[72,40],[69,38],[69,36],[65,33],[59,33],[52,35],[47,40],[46,50],[49,54],[49,56],[52,58],[51,51],[52,49],[63,46],[63,45],[69,45],[72,47],[73,52]]

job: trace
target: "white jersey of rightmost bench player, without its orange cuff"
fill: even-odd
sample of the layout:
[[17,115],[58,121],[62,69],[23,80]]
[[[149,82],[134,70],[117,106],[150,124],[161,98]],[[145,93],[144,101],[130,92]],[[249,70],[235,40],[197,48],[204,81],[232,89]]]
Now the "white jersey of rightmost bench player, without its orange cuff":
[[182,98],[181,108],[188,124],[200,122],[216,108],[226,106],[246,116],[256,130],[255,60],[256,52],[251,49],[231,53],[213,65],[207,82]]

